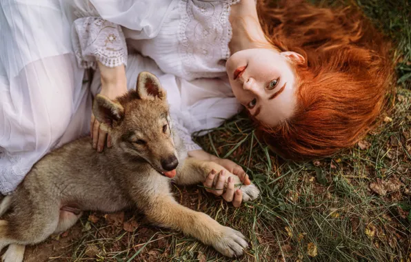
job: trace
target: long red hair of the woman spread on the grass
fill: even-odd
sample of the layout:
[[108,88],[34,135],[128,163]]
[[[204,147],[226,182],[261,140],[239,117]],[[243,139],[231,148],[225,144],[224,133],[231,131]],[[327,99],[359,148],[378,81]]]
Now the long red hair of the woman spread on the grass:
[[394,75],[390,45],[353,8],[317,8],[285,1],[281,8],[257,5],[267,39],[281,51],[303,55],[293,64],[297,108],[258,134],[287,159],[325,157],[354,145],[386,101]]

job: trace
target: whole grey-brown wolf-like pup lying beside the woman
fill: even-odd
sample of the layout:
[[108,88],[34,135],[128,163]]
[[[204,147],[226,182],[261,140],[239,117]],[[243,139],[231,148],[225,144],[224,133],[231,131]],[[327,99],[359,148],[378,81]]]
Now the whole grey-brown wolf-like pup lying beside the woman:
[[[70,208],[102,212],[139,208],[152,223],[181,230],[225,256],[243,254],[248,246],[243,234],[179,205],[170,193],[171,179],[164,172],[177,168],[174,181],[188,185],[204,181],[212,169],[223,168],[187,158],[170,129],[166,92],[157,77],[141,72],[137,90],[115,101],[97,95],[93,113],[110,132],[112,148],[99,154],[85,137],[33,166],[0,204],[0,250],[9,245],[3,261],[22,261],[25,245],[68,230],[81,216]],[[242,190],[244,201],[259,195],[255,185],[243,185]]]

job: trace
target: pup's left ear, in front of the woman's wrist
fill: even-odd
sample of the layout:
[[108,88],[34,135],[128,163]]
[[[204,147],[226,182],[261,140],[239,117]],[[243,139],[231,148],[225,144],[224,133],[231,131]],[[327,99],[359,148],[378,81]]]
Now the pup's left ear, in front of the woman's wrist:
[[123,106],[116,101],[111,101],[103,94],[97,94],[95,97],[92,111],[97,121],[110,127],[114,121],[121,121],[124,117]]

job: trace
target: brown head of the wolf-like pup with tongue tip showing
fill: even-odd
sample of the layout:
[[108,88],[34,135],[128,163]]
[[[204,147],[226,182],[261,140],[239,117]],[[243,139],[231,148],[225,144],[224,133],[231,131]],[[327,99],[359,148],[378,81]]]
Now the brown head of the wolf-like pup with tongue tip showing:
[[143,159],[161,174],[174,177],[179,161],[170,130],[166,90],[154,74],[141,72],[136,90],[115,101],[97,94],[93,113],[108,129],[112,150],[130,161]]

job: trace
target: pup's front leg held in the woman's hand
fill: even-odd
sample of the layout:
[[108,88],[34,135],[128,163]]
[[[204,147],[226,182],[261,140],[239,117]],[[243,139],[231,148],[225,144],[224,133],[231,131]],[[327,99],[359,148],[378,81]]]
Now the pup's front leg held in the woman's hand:
[[[194,158],[186,159],[183,165],[181,165],[181,168],[177,169],[177,176],[174,177],[174,181],[179,185],[193,185],[204,182],[211,170],[215,170],[216,172],[225,170],[225,187],[227,186],[228,177],[234,179],[233,181],[236,188],[240,188],[241,185],[243,201],[252,201],[259,196],[260,191],[255,185],[242,185],[242,181],[238,176],[212,161],[202,161]],[[218,179],[219,176],[215,176],[214,183],[216,183]]]

